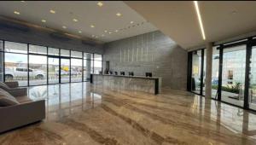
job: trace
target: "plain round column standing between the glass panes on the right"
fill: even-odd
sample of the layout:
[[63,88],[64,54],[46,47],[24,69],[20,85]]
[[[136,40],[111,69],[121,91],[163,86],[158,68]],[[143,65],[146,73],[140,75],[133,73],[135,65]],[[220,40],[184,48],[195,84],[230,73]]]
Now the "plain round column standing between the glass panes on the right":
[[212,43],[207,43],[207,61],[206,67],[206,99],[212,98]]

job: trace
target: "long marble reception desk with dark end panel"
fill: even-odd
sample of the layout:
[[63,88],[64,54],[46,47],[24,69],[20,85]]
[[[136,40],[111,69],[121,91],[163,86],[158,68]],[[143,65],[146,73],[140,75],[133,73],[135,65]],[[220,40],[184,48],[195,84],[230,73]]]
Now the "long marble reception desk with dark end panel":
[[135,90],[157,95],[161,90],[161,78],[90,74],[90,83],[115,90]]

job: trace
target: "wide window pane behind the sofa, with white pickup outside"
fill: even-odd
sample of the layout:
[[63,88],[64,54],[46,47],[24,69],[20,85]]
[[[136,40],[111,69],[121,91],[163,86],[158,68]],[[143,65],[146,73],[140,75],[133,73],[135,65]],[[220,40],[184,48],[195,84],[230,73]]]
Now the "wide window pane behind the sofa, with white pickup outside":
[[5,41],[4,77],[6,82],[18,81],[20,86],[27,83],[27,44]]

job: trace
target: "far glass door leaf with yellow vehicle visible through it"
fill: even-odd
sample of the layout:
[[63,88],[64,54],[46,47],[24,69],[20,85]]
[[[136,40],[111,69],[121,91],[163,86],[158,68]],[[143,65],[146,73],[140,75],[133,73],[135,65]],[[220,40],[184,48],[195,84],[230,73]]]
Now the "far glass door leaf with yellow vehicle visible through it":
[[61,83],[70,82],[70,59],[61,58]]

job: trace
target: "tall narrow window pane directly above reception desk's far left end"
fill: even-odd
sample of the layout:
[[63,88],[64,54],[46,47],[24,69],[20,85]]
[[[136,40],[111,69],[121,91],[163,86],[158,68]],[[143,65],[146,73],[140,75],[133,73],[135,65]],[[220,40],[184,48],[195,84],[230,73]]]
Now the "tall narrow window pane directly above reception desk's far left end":
[[93,54],[84,53],[84,81],[90,80],[90,73],[93,71]]

